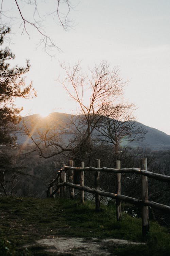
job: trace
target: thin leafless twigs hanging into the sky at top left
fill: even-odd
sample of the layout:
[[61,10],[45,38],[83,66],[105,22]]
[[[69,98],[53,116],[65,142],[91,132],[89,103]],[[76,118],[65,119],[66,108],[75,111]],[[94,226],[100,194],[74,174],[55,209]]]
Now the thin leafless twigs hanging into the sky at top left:
[[[60,47],[58,47],[53,42],[52,38],[48,35],[48,33],[43,30],[43,24],[46,22],[46,16],[53,15],[53,19],[54,17],[57,17],[59,24],[63,27],[64,30],[68,30],[68,28],[71,28],[74,23],[73,20],[68,19],[70,11],[71,9],[73,9],[73,6],[71,5],[71,1],[69,0],[53,1],[53,3],[51,3],[52,5],[51,9],[55,11],[52,11],[49,14],[40,13],[40,8],[38,8],[38,4],[42,4],[42,2],[39,0],[25,1],[25,6],[21,6],[21,3],[19,2],[19,0],[14,0],[14,2],[19,12],[19,16],[13,17],[12,15],[9,15],[9,16],[6,15],[6,13],[10,12],[10,10],[9,11],[4,10],[3,0],[1,0],[1,3],[0,3],[0,15],[6,17],[9,20],[21,19],[22,23],[20,24],[20,27],[23,25],[21,34],[26,32],[29,38],[30,38],[30,33],[28,31],[28,27],[31,26],[35,30],[37,30],[37,32],[41,36],[38,46],[43,45],[43,49],[48,55],[52,56],[50,53],[51,47],[57,48],[57,50],[61,52]],[[44,2],[43,4],[47,4],[49,7],[49,2],[47,3]],[[31,10],[32,18],[27,18],[27,15],[24,13],[24,10],[28,7],[28,5],[32,6],[32,10]],[[62,9],[64,10],[64,13],[61,11]]]

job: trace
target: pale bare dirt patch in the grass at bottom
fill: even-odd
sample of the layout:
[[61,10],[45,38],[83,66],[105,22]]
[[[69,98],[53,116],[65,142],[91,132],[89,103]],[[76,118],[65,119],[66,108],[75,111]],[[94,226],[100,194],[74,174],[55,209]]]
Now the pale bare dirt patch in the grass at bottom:
[[143,244],[135,243],[127,240],[120,239],[102,239],[97,238],[84,239],[84,238],[66,238],[56,237],[47,238],[36,241],[41,246],[47,246],[48,252],[57,253],[57,255],[72,255],[72,256],[101,256],[111,255],[109,248],[113,245],[130,245],[130,244]]

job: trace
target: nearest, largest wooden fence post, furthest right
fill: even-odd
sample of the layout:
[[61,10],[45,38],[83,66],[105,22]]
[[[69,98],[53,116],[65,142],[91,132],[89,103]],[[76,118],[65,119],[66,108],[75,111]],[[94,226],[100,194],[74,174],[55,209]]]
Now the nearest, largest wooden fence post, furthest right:
[[[140,160],[141,170],[147,171],[147,158]],[[142,180],[142,200],[148,201],[148,177],[141,175]],[[142,206],[142,235],[146,236],[149,232],[149,208],[148,206]]]

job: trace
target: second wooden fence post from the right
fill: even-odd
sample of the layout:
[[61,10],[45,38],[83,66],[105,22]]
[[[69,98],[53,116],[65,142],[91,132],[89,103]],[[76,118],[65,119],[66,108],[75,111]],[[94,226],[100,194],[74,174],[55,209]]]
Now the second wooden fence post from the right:
[[[120,169],[120,160],[116,161],[116,169]],[[116,193],[117,195],[121,195],[121,173],[117,173],[116,176]],[[121,201],[118,199],[116,199],[116,217],[117,221],[120,221],[122,218]]]

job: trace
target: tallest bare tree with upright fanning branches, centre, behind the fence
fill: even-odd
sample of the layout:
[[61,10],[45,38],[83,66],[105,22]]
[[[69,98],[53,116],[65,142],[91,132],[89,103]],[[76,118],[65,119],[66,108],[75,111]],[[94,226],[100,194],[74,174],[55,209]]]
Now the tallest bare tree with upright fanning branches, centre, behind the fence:
[[62,84],[79,108],[79,115],[72,118],[71,123],[74,126],[74,156],[80,164],[92,144],[91,135],[100,126],[108,105],[122,96],[125,82],[120,77],[119,68],[111,69],[105,61],[89,68],[88,73],[83,73],[80,63],[73,68],[65,64],[61,67],[66,72]]

